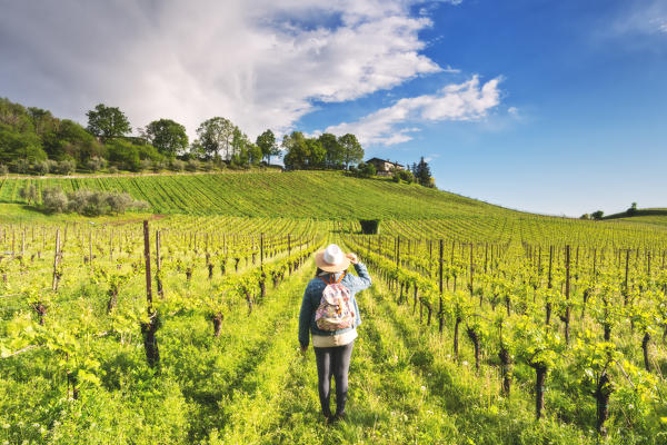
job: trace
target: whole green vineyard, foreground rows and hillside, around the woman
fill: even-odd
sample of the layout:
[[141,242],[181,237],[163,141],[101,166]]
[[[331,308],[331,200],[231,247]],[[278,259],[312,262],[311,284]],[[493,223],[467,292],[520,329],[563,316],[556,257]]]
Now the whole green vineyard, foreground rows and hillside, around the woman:
[[[161,215],[0,217],[0,443],[667,444],[659,217],[345,177],[320,199],[338,174],[256,175],[37,180]],[[374,285],[348,419],[326,427],[297,325],[328,243]]]

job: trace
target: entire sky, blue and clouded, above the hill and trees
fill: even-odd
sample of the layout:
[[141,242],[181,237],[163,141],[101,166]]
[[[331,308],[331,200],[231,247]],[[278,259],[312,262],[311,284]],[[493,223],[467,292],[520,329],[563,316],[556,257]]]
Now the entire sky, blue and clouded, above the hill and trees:
[[438,187],[579,216],[667,207],[666,0],[3,2],[0,96],[84,122],[225,116],[425,156]]

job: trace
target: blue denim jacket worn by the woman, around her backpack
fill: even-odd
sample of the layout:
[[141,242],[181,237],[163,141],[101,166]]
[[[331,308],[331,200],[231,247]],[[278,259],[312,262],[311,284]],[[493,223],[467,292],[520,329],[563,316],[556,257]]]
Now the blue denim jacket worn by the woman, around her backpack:
[[[308,330],[313,335],[338,335],[345,334],[348,330],[357,328],[361,324],[361,317],[359,317],[359,306],[357,306],[357,299],[355,298],[355,294],[368,288],[371,284],[370,275],[368,275],[368,269],[361,263],[357,263],[355,265],[355,270],[357,270],[357,275],[346,274],[340,281],[345,287],[347,287],[350,291],[351,300],[355,307],[355,325],[347,327],[345,329],[338,330],[321,330],[317,327],[315,323],[315,312],[319,307],[320,300],[322,298],[322,291],[327,285],[319,277],[312,278],[308,286],[306,286],[306,291],[303,293],[303,300],[301,301],[301,312],[299,313],[299,343],[302,347],[308,346],[310,342],[310,336],[308,335]],[[322,278],[330,280],[331,275],[325,275]]]

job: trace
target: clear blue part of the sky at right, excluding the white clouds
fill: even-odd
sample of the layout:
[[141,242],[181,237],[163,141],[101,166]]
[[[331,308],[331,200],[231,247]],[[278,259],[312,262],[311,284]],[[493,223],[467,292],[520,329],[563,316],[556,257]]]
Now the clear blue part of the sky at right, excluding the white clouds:
[[354,119],[472,73],[501,77],[501,101],[485,118],[418,125],[412,140],[367,152],[399,161],[424,155],[438,187],[530,211],[667,206],[667,30],[646,4],[438,4],[429,11],[432,27],[420,32],[429,42],[422,53],[459,73],[412,79],[300,123],[318,129],[337,116]]

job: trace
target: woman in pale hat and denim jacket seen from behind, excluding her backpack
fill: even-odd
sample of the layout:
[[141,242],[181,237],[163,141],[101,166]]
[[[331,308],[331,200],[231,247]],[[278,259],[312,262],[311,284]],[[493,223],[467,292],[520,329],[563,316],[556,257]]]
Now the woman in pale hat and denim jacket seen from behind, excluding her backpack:
[[[358,277],[347,274],[346,270],[355,265]],[[357,326],[361,324],[359,307],[355,294],[370,286],[370,276],[365,265],[358,261],[355,254],[344,255],[340,247],[335,244],[327,246],[315,256],[317,271],[313,279],[308,283],[303,293],[301,312],[299,314],[299,343],[301,353],[308,349],[309,335],[312,334],[312,348],[317,362],[317,376],[322,414],[327,421],[336,422],[345,418],[345,403],[348,390],[348,369],[352,346],[357,338]],[[316,322],[316,310],[320,306],[322,291],[327,285],[340,283],[350,295],[350,307],[354,320],[351,326],[336,330],[323,330]],[[329,395],[331,389],[331,375],[336,379],[336,414],[331,415]]]

